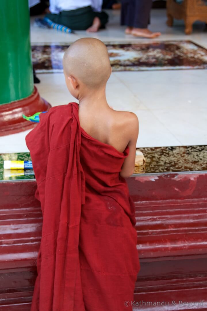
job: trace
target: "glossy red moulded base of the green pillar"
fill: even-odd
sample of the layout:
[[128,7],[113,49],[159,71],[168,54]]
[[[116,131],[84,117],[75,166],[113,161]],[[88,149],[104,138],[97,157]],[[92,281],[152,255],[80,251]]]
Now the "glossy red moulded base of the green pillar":
[[25,120],[22,114],[31,116],[39,111],[48,111],[50,108],[51,105],[40,97],[35,86],[34,92],[30,96],[0,105],[0,136],[34,128],[37,123]]

